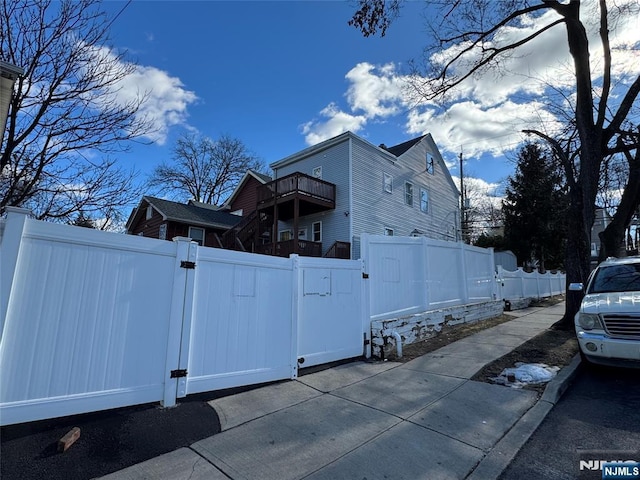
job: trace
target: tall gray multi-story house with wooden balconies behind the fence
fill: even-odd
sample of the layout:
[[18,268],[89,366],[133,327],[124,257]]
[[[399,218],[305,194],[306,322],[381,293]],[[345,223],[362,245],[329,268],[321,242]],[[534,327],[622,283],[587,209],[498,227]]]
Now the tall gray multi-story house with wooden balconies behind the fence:
[[306,189],[317,200],[315,208],[296,203],[280,216],[273,202],[276,242],[359,258],[362,233],[460,238],[460,194],[430,134],[387,147],[346,132],[270,167],[275,180],[264,188],[279,191],[275,197],[284,202],[286,191]]

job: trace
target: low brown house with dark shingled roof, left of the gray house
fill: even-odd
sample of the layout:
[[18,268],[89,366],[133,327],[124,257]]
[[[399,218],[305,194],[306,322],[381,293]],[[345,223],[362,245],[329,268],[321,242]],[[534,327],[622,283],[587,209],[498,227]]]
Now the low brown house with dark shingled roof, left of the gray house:
[[178,203],[144,196],[127,220],[127,233],[161,240],[189,237],[206,247],[222,247],[220,236],[242,221],[206,203]]

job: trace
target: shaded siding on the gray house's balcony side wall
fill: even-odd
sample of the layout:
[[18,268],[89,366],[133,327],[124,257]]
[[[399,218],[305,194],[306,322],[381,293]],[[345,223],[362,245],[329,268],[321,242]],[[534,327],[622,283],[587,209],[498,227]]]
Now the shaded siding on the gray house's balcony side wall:
[[[337,145],[316,152],[300,161],[275,170],[276,178],[295,172],[313,175],[315,167],[322,166],[322,180],[336,185],[336,208],[299,218],[299,228],[307,229],[307,240],[312,239],[312,224],[322,222],[322,254],[335,241],[350,241],[349,235],[349,139]],[[293,222],[280,222],[280,230],[293,229]]]

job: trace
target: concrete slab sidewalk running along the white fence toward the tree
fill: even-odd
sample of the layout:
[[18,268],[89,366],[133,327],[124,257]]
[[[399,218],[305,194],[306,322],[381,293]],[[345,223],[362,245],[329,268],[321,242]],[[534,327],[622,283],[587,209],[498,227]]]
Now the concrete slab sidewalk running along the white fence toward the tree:
[[563,313],[562,303],[509,312],[514,320],[407,363],[355,362],[214,400],[222,433],[102,478],[495,478],[578,362],[540,400],[469,379]]

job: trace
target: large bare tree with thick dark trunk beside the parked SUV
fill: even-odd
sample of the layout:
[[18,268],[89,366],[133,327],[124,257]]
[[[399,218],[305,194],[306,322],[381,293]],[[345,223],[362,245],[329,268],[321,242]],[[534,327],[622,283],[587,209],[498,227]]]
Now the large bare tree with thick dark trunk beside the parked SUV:
[[[352,24],[365,35],[384,33],[389,18],[397,14],[398,0],[361,0]],[[612,74],[611,29],[625,16],[638,15],[638,2],[592,2],[598,15],[602,58],[595,68],[588,32],[580,17],[584,1],[568,0],[458,0],[429,2],[432,8],[430,33],[434,41],[426,49],[427,65],[413,76],[412,87],[423,99],[442,99],[466,80],[479,75],[500,75],[506,59],[554,28],[564,28],[575,78],[573,95],[574,125],[577,150],[570,150],[545,132],[532,133],[548,140],[554,153],[563,159],[569,186],[570,206],[567,218],[568,239],[565,268],[567,284],[585,282],[590,271],[590,231],[595,218],[600,167],[603,160],[620,148],[618,138],[628,152],[637,151],[637,132],[625,128],[630,112],[640,93],[640,76],[629,74],[614,81]],[[388,8],[387,8],[388,7]],[[544,16],[546,13],[553,15]],[[391,16],[391,17],[390,17]],[[532,18],[540,20],[533,28]],[[521,37],[504,35],[508,29],[523,25]],[[452,47],[452,48],[450,48]],[[592,69],[592,67],[594,67]],[[594,94],[597,81],[597,95]],[[561,156],[564,154],[564,156]],[[566,311],[560,328],[571,328],[582,294],[567,291]]]

